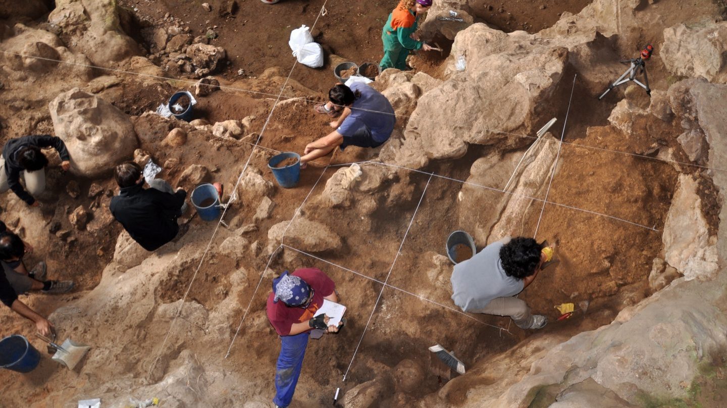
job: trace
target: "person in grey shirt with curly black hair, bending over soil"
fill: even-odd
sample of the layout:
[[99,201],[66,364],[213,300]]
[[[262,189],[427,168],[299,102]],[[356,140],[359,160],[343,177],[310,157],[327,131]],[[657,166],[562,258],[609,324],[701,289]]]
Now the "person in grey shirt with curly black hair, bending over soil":
[[543,247],[532,238],[508,238],[454,265],[450,279],[454,304],[469,313],[510,316],[521,329],[544,327],[547,317],[531,314],[525,301],[515,297],[545,263]]

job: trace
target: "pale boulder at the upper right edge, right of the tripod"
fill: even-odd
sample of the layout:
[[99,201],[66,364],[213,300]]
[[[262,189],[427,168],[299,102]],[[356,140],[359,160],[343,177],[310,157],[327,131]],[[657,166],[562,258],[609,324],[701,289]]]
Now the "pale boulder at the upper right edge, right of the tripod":
[[664,29],[662,61],[674,75],[699,77],[727,83],[727,22],[707,20],[700,24],[678,24]]

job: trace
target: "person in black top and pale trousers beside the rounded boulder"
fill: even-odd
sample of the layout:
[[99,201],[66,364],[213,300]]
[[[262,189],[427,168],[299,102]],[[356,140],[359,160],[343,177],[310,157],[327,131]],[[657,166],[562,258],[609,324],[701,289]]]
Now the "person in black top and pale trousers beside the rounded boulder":
[[[0,193],[12,190],[20,199],[32,205],[39,206],[39,202],[33,198],[33,194],[39,194],[45,190],[45,170],[48,164],[47,157],[41,148],[53,147],[58,151],[62,160],[60,167],[68,171],[71,168],[71,156],[65,148],[60,137],[40,135],[23,136],[17,139],[10,139],[2,148],[0,157]],[[25,182],[25,188],[20,185],[20,178]]]

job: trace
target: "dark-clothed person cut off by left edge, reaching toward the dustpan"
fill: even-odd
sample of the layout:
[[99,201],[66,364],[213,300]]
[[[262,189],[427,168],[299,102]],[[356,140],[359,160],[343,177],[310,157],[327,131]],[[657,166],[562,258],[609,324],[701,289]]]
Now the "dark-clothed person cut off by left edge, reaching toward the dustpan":
[[0,258],[4,272],[0,273],[0,301],[15,313],[33,321],[41,335],[47,336],[53,324],[21,302],[17,295],[33,289],[44,293],[65,293],[73,289],[73,281],[43,281],[46,268],[42,262],[29,276],[23,264],[23,255],[32,250],[33,247],[7,231],[5,223],[0,221]]

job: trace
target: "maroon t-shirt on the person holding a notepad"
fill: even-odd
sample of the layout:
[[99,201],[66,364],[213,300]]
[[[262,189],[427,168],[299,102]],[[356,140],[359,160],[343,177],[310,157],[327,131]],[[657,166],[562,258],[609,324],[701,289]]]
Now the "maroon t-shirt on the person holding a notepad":
[[268,296],[268,320],[273,325],[278,335],[287,336],[290,334],[290,328],[294,323],[302,323],[308,321],[316,313],[318,308],[323,305],[323,298],[331,295],[336,288],[336,284],[320,269],[302,268],[296,269],[293,276],[298,276],[313,288],[313,300],[308,308],[291,308],[286,306],[282,300],[273,303],[275,294],[270,292]]

